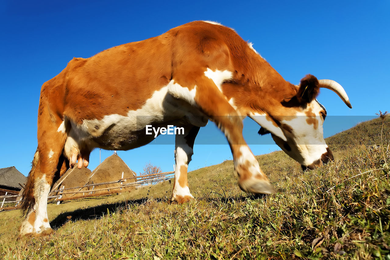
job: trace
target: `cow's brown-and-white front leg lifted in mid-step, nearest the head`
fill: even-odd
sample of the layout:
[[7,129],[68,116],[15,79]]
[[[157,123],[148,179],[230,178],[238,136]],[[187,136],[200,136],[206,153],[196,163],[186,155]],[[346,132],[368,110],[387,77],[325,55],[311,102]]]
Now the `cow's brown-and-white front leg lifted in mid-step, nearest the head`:
[[241,189],[257,194],[275,193],[275,188],[269,183],[244,140],[242,117],[211,79],[202,78],[196,85],[195,102],[225,134],[232,150],[234,169]]

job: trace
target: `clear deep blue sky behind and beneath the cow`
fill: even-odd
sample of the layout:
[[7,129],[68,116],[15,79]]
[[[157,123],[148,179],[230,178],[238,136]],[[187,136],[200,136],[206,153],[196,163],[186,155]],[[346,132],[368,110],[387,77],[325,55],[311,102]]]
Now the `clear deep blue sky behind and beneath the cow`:
[[[328,111],[325,136],[367,120],[388,106],[390,1],[0,1],[0,168],[27,175],[37,147],[37,109],[42,84],[73,57],[160,35],[195,21],[234,28],[291,83],[305,74],[338,81],[353,109],[330,90],[318,98]],[[255,154],[277,149],[259,126],[245,119],[245,137]],[[206,145],[207,138],[220,145]],[[209,123],[195,141],[190,170],[231,159],[218,129]],[[218,139],[220,138],[220,139]],[[266,139],[268,138],[268,139]],[[264,141],[265,140],[265,141]],[[156,143],[165,143],[158,145]],[[198,143],[198,145],[197,145]],[[202,144],[199,144],[202,143]],[[265,143],[256,145],[256,143]],[[102,151],[102,160],[111,155]],[[145,163],[170,171],[174,138],[119,156],[135,172]],[[92,152],[90,169],[99,164]]]

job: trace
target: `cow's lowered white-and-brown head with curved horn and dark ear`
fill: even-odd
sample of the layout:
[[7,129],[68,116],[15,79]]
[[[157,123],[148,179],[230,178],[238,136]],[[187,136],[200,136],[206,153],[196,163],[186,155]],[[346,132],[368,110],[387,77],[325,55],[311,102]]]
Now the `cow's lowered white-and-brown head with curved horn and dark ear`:
[[328,88],[352,108],[346,92],[339,83],[317,80],[312,75],[305,76],[298,86],[291,84],[290,88],[291,91],[275,95],[270,100],[272,106],[252,110],[249,116],[261,126],[259,134],[271,133],[275,143],[298,161],[303,170],[328,163],[333,160],[333,154],[323,134],[326,110],[316,97],[320,88]]

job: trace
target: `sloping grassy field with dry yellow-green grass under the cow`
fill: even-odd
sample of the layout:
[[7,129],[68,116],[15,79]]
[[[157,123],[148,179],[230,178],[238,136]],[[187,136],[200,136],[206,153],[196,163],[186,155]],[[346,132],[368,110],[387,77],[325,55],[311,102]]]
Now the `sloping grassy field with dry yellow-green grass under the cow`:
[[[257,156],[280,193],[243,193],[232,161],[189,174],[196,201],[172,184],[49,204],[55,232],[16,241],[21,212],[0,213],[6,259],[389,259],[390,121],[327,139],[335,161],[302,172],[283,152]],[[379,147],[377,147],[379,145]]]

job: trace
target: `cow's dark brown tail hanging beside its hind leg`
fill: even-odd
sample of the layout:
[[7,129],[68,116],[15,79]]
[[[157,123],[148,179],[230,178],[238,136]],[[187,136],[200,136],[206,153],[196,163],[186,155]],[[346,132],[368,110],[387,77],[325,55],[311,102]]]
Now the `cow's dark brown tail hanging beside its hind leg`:
[[32,209],[35,205],[35,198],[34,198],[34,182],[35,182],[35,169],[37,167],[37,163],[39,160],[39,152],[38,148],[37,151],[34,154],[34,159],[31,163],[31,170],[28,173],[27,182],[23,189],[22,193],[22,201],[21,201],[21,209],[23,214],[26,214],[30,209]]

